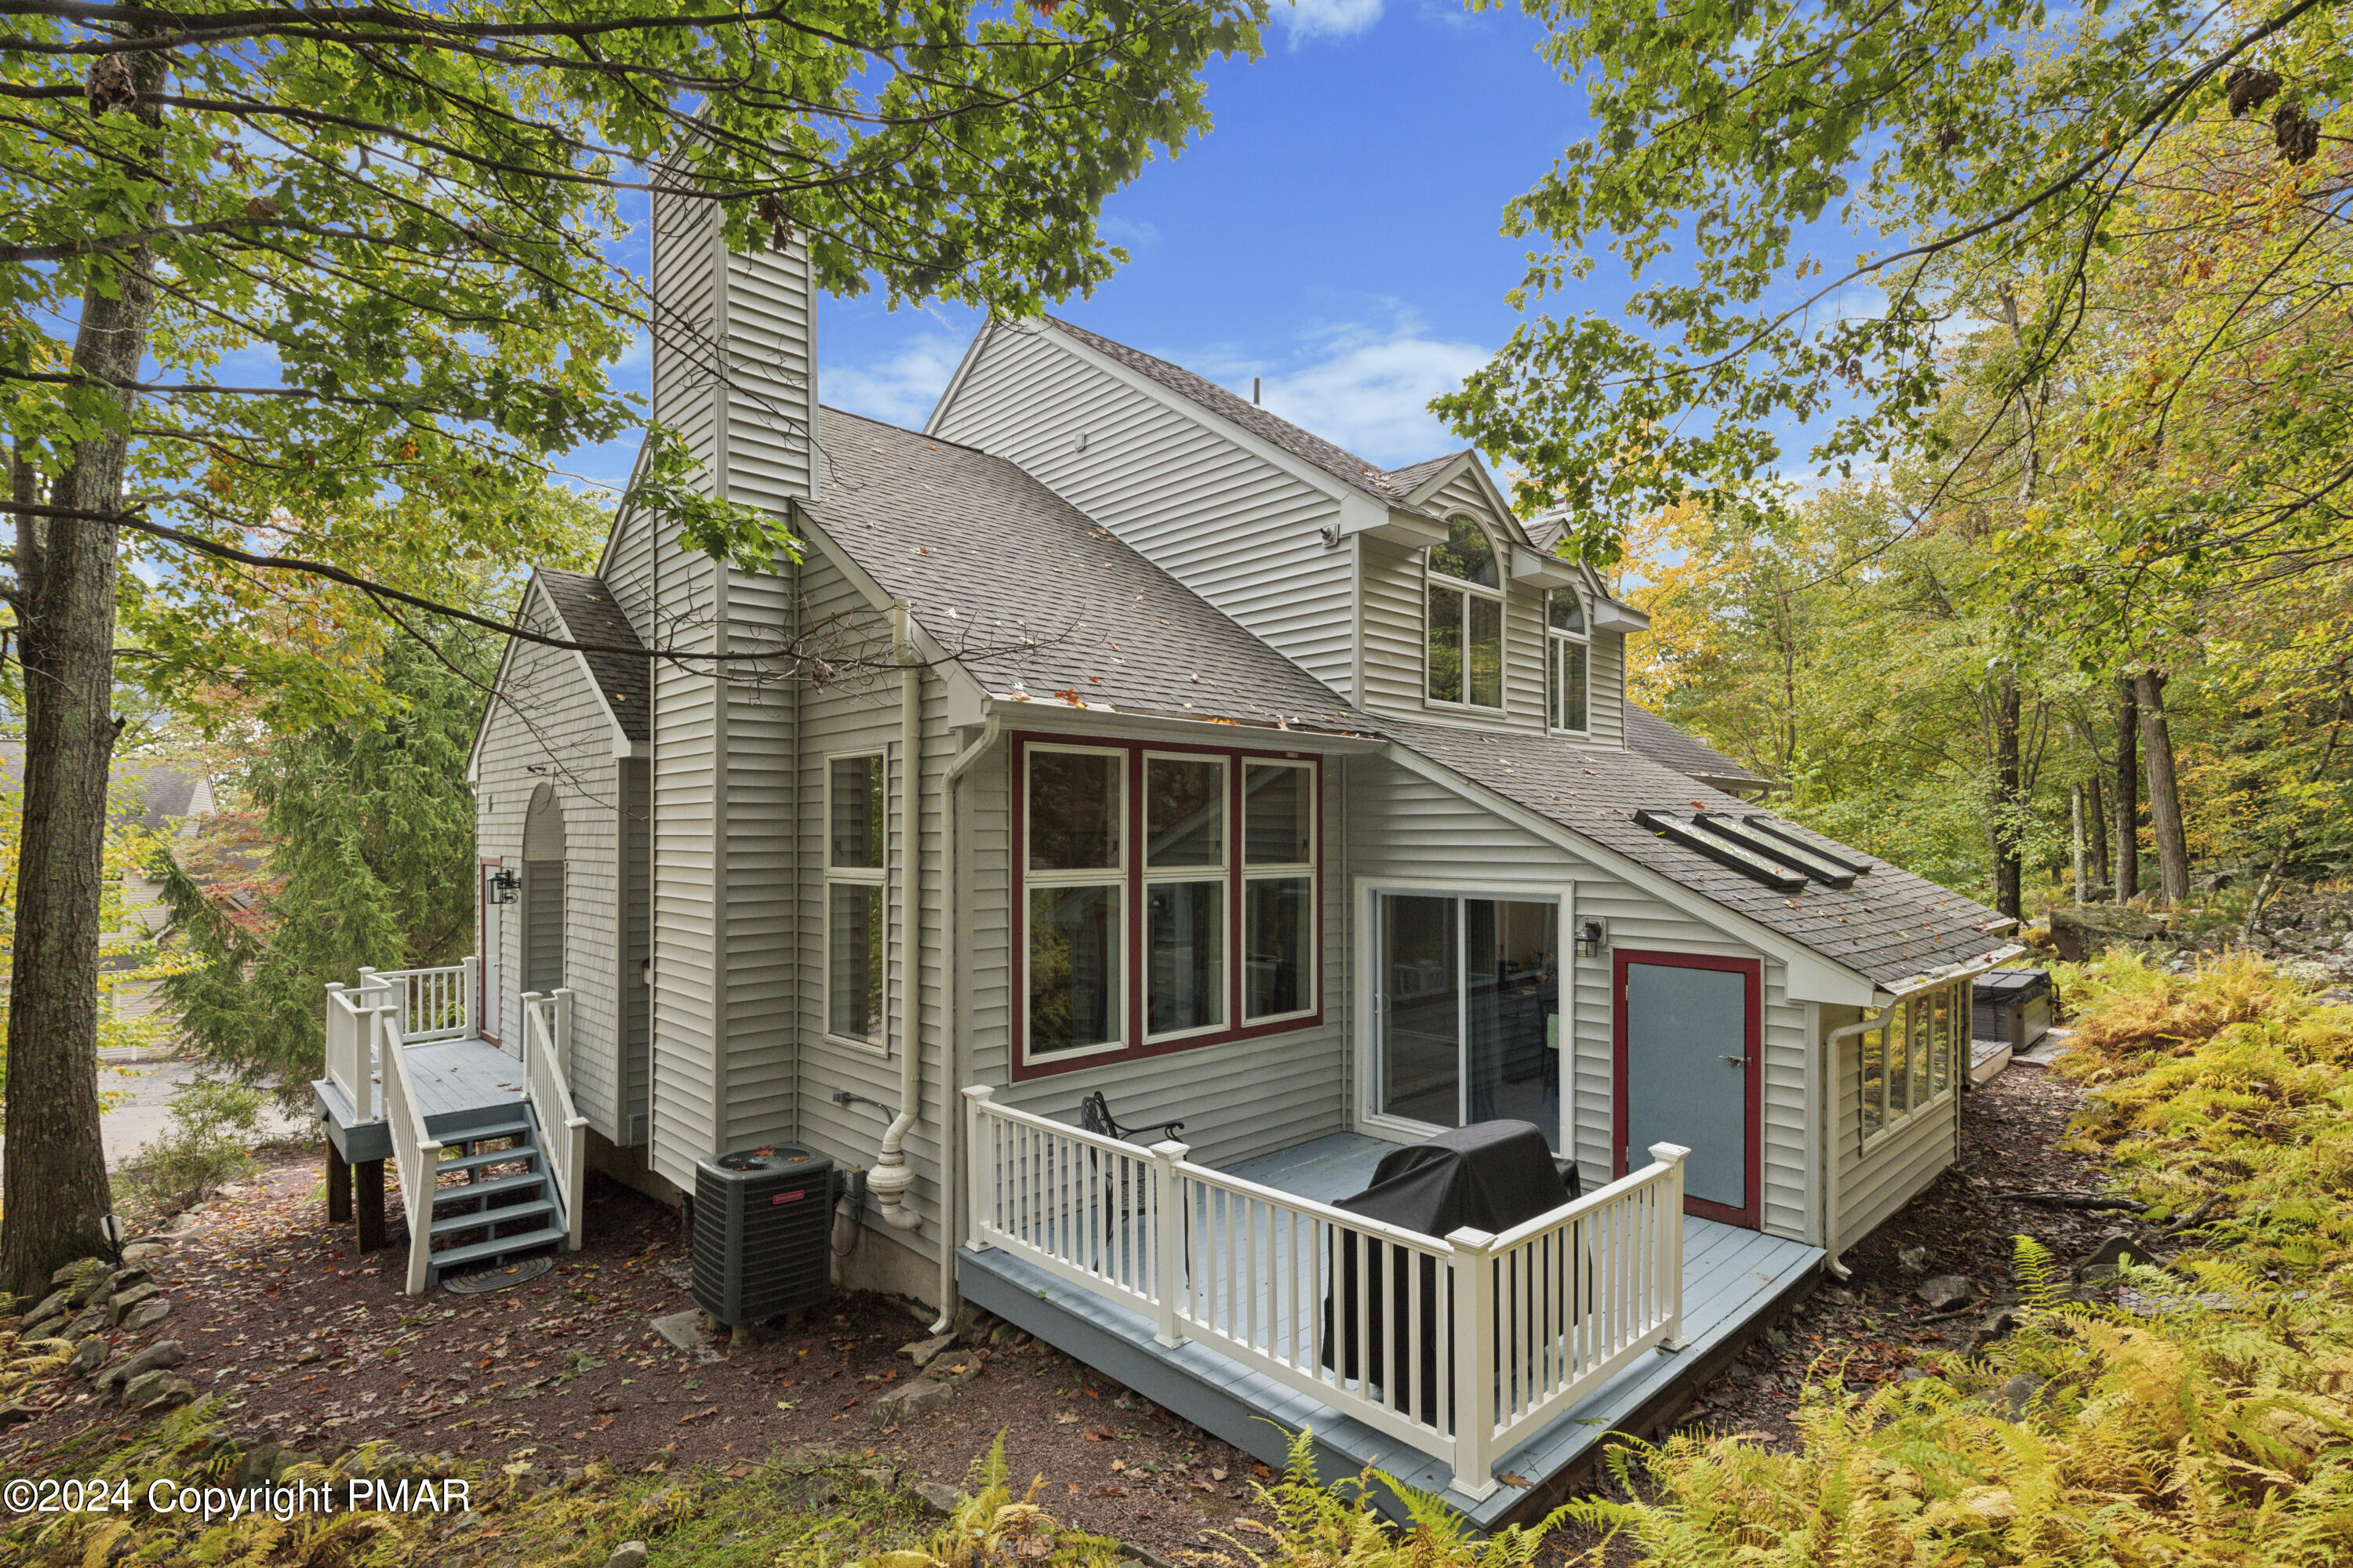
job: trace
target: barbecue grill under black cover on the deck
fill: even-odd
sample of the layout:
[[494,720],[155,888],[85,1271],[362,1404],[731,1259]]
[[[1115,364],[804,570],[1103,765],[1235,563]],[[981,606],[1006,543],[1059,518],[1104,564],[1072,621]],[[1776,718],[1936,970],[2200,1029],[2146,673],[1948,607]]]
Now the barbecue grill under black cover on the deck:
[[[1577,1161],[1553,1159],[1553,1150],[1534,1121],[1480,1121],[1440,1133],[1428,1143],[1391,1150],[1374,1166],[1369,1187],[1337,1199],[1332,1206],[1398,1229],[1445,1239],[1464,1227],[1501,1234],[1574,1197],[1581,1197]],[[1419,1260],[1421,1347],[1419,1354],[1407,1356],[1407,1338],[1414,1333],[1407,1276],[1414,1269],[1405,1267],[1402,1260],[1386,1258],[1386,1253],[1405,1253],[1405,1248],[1391,1248],[1372,1234],[1358,1244],[1355,1234],[1339,1227],[1332,1232],[1332,1248],[1339,1258],[1332,1258],[1325,1272],[1332,1284],[1325,1291],[1322,1363],[1334,1366],[1341,1378],[1381,1385],[1391,1408],[1419,1406],[1421,1420],[1438,1425],[1438,1389],[1442,1380],[1452,1382],[1454,1354],[1452,1345],[1447,1345],[1445,1361],[1438,1354],[1438,1335],[1445,1324],[1445,1314],[1438,1309],[1438,1260]],[[1362,1314],[1358,1312],[1360,1248],[1367,1276]],[[1577,1284],[1567,1281],[1558,1300],[1569,1302],[1572,1319],[1579,1312],[1577,1298]],[[1358,1345],[1360,1333],[1362,1347]],[[1391,1378],[1384,1375],[1398,1359],[1419,1368],[1414,1396],[1393,1387]]]

